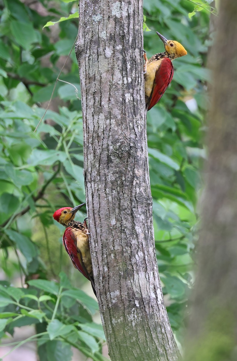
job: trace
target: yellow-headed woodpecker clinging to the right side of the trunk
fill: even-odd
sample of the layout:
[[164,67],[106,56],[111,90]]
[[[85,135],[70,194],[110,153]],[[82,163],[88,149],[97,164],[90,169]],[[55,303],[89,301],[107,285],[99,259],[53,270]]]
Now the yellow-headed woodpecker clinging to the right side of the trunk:
[[160,100],[169,83],[172,81],[174,68],[172,61],[180,56],[187,55],[185,48],[174,40],[167,40],[158,31],[156,34],[163,41],[165,51],[153,55],[149,60],[143,50],[145,101],[146,110],[150,110]]

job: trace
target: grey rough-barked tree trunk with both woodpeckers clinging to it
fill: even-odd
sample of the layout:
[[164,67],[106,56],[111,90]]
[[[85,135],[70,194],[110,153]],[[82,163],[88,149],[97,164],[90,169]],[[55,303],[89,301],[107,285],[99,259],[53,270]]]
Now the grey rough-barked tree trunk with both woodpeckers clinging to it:
[[79,2],[91,256],[112,361],[177,360],[155,256],[142,0]]

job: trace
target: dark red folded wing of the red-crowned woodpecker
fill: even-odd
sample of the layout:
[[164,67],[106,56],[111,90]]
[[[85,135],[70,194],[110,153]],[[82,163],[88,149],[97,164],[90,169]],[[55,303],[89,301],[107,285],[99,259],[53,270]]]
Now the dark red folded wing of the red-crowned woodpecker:
[[63,244],[69,256],[71,257],[74,267],[77,268],[78,271],[80,271],[83,274],[83,276],[91,280],[85,270],[80,253],[78,253],[77,251],[77,238],[73,234],[73,230],[70,227],[66,228],[64,232]]

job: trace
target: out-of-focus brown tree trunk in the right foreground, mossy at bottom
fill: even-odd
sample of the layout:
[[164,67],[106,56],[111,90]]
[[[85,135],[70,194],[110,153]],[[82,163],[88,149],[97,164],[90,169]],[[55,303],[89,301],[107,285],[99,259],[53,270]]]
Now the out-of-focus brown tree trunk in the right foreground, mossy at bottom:
[[198,272],[186,360],[237,360],[237,1],[220,2]]

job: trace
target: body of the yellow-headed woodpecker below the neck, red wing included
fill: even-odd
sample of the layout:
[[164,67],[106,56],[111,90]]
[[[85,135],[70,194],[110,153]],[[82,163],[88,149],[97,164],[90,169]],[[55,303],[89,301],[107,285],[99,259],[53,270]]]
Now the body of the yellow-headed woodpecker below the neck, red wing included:
[[174,68],[172,61],[165,56],[165,53],[159,53],[152,56],[149,60],[146,53],[143,54],[145,59],[144,78],[145,78],[145,101],[146,110],[154,106],[173,78]]

